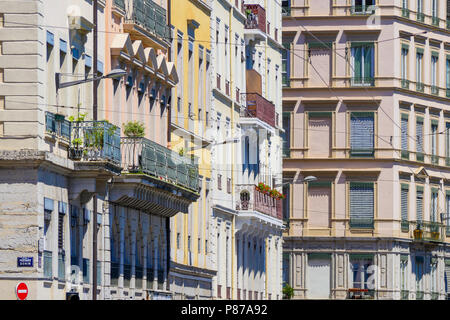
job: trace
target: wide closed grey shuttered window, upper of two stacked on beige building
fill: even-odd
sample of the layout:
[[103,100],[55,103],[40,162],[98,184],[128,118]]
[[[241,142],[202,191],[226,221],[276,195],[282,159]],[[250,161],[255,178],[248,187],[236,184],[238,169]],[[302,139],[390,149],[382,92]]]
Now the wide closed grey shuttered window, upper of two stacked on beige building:
[[352,112],[350,115],[350,154],[373,156],[374,113]]

